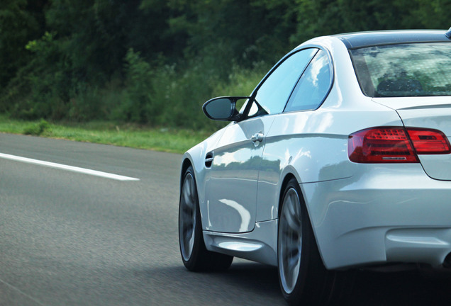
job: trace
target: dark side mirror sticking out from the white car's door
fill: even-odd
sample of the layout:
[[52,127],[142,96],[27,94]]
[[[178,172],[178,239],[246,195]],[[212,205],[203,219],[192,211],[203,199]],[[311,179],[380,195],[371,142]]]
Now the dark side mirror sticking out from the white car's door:
[[204,103],[202,110],[208,118],[213,120],[237,121],[240,119],[240,114],[236,109],[236,101],[247,98],[249,97],[212,98]]

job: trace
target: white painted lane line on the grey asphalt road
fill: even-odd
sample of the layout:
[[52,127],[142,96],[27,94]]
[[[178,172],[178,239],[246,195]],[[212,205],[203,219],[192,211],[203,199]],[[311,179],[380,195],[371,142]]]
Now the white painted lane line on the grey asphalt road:
[[29,159],[26,157],[18,157],[15,155],[10,155],[10,154],[4,154],[4,153],[0,153],[0,158],[3,159],[10,159],[13,161],[17,161],[17,162],[25,162],[28,164],[37,164],[40,166],[48,166],[51,168],[56,168],[56,169],[62,169],[62,170],[67,170],[67,171],[73,171],[73,172],[78,172],[78,173],[82,173],[82,174],[89,174],[89,175],[93,175],[93,176],[101,176],[104,177],[106,179],[115,179],[118,181],[139,181],[140,179],[135,179],[132,177],[128,177],[128,176],[120,176],[117,174],[109,174],[107,172],[102,172],[102,171],[96,171],[96,170],[91,170],[91,169],[84,169],[84,168],[79,168],[76,166],[67,166],[64,164],[56,164],[56,163],[52,163],[52,162],[44,162],[44,161],[40,161],[38,159]]

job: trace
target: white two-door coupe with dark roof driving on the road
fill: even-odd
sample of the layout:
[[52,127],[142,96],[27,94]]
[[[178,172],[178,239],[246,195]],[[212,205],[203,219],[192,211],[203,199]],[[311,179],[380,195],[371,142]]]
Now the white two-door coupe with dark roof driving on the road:
[[314,38],[250,96],[207,101],[230,124],[183,157],[186,268],[277,266],[291,305],[324,303],[340,270],[450,268],[450,33]]

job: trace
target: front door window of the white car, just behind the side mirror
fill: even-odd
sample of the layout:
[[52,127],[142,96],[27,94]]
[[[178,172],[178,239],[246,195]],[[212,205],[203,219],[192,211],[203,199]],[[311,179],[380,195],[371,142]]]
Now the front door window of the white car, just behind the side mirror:
[[252,106],[249,116],[282,113],[296,81],[316,52],[316,48],[301,50],[279,64],[257,89],[257,106]]

